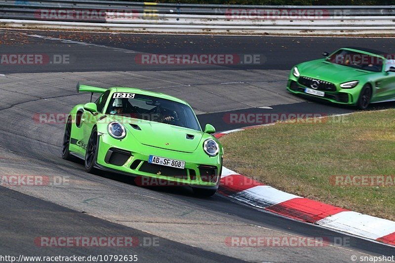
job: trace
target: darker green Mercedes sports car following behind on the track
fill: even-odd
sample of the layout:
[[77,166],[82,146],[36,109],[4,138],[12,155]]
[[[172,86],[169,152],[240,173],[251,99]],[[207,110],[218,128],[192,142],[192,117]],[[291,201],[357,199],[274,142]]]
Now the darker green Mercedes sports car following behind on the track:
[[395,99],[395,58],[380,51],[343,47],[324,59],[292,68],[287,90],[364,110]]

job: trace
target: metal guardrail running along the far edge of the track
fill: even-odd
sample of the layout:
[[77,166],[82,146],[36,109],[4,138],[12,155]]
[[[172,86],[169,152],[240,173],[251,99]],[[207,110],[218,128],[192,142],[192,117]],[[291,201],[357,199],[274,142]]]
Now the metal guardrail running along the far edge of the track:
[[0,26],[192,33],[394,34],[395,6],[0,0]]

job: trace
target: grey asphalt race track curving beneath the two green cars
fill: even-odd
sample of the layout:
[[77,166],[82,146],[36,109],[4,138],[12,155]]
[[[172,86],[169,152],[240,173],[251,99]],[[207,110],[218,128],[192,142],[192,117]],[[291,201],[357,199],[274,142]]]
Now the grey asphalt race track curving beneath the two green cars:
[[[0,65],[0,174],[41,175],[61,183],[0,187],[0,255],[138,255],[141,262],[350,262],[351,256],[391,256],[394,247],[343,235],[242,206],[189,188],[141,188],[132,178],[84,172],[61,158],[64,124],[40,113],[66,114],[89,94],[77,81],[134,86],[187,100],[201,125],[217,131],[260,123],[229,123],[229,113],[355,111],[285,91],[289,69],[321,51],[364,46],[391,52],[394,38],[185,36],[0,30],[2,54],[66,56],[68,63]],[[356,44],[357,43],[357,44]],[[139,54],[261,54],[255,65],[141,65]],[[265,61],[265,62],[263,62]],[[370,110],[393,107],[376,104]],[[61,121],[59,121],[61,122]],[[42,247],[38,237],[133,236],[158,246]],[[233,236],[324,237],[325,247],[231,247]],[[339,244],[336,240],[347,240]]]

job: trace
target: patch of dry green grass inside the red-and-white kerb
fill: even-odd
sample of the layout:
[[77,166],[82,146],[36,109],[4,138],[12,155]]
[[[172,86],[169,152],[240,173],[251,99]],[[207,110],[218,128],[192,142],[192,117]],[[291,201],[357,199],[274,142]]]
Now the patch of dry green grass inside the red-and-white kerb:
[[336,186],[335,175],[395,175],[395,110],[277,123],[222,137],[224,166],[280,190],[395,220],[395,186]]

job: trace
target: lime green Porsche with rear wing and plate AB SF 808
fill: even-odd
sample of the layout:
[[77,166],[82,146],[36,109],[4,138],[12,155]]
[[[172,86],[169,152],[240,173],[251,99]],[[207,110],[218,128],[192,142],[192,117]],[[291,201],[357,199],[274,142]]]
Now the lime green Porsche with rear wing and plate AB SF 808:
[[223,148],[211,135],[215,132],[212,125],[201,130],[188,103],[137,88],[105,89],[78,83],[77,92],[81,91],[101,95],[69,113],[64,159],[83,159],[87,172],[100,169],[137,176],[143,186],[158,186],[155,180],[159,180],[191,186],[198,195],[216,192]]

